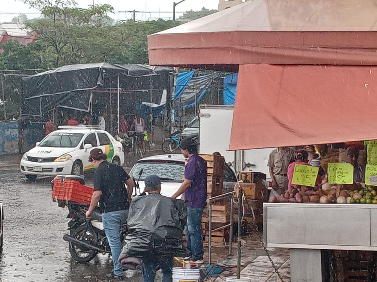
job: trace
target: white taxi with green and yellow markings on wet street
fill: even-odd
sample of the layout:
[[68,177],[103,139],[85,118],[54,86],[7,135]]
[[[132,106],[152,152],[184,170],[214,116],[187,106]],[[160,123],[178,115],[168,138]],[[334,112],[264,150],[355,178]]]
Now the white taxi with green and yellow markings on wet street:
[[94,170],[88,160],[92,148],[102,149],[109,162],[124,162],[122,144],[110,133],[84,126],[60,126],[22,156],[21,173],[30,180],[38,175],[81,175]]

